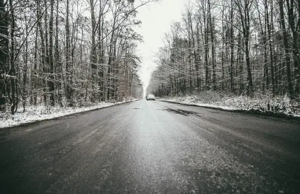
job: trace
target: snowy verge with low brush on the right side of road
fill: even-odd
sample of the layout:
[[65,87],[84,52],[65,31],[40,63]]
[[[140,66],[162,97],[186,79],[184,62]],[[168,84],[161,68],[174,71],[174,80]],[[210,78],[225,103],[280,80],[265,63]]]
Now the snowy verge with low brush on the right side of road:
[[247,110],[267,114],[278,114],[300,117],[300,103],[292,102],[287,96],[271,98],[267,95],[255,96],[233,96],[207,91],[193,95],[172,96],[159,98],[157,100],[176,102],[202,107],[218,108],[223,110]]

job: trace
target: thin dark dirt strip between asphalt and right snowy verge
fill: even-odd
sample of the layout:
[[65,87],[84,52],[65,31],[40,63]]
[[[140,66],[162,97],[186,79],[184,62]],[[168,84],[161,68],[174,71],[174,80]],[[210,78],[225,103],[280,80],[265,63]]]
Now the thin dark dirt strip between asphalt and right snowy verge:
[[208,108],[208,109],[214,109],[214,110],[221,110],[221,111],[226,111],[226,112],[242,113],[242,114],[258,116],[258,117],[262,117],[262,118],[270,118],[270,119],[276,119],[276,120],[282,119],[282,121],[300,123],[300,117],[286,115],[286,114],[278,114],[278,113],[273,113],[273,112],[261,112],[259,110],[226,110],[226,109],[218,108],[218,107],[191,105],[191,104],[184,104],[184,103],[177,103],[177,102],[170,102],[170,101],[163,101],[163,100],[157,100],[157,101],[185,105],[185,106],[194,106],[194,107]]

